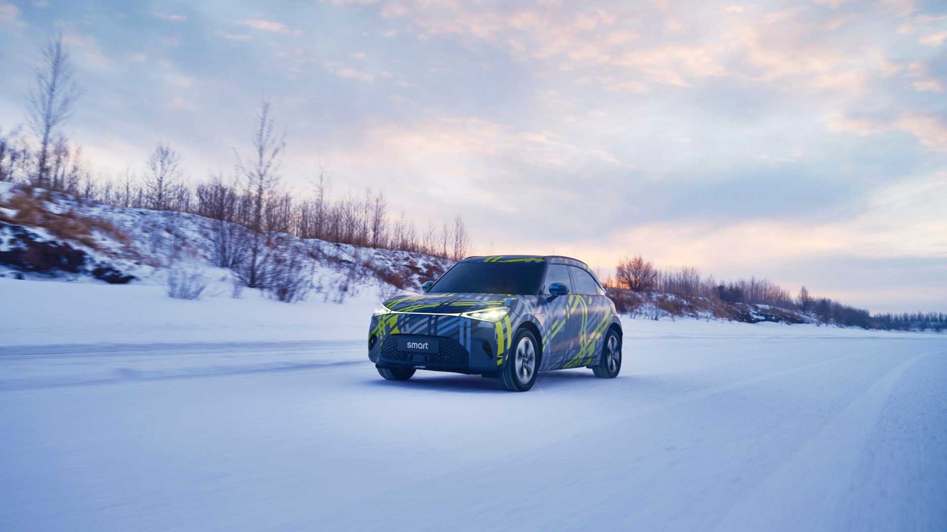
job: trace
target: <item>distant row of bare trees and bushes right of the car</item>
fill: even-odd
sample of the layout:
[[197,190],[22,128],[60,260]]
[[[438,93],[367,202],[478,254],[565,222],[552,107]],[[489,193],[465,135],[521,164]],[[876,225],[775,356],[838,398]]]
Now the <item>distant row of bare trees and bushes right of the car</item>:
[[825,325],[892,330],[926,329],[938,332],[947,329],[947,314],[943,313],[871,314],[868,310],[844,305],[828,297],[815,297],[805,286],[794,296],[789,290],[768,279],[750,277],[749,280],[722,282],[714,279],[713,275],[701,275],[700,271],[693,267],[662,270],[640,255],[619,260],[615,276],[608,277],[603,284],[612,290],[668,293],[723,303],[769,305],[784,310],[798,310]]

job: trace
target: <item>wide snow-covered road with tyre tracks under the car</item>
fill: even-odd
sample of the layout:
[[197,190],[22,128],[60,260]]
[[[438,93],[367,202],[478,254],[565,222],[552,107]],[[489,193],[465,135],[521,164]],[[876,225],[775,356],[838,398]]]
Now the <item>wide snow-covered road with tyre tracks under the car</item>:
[[0,530],[947,529],[943,337],[676,325],[526,394],[360,341],[0,347]]

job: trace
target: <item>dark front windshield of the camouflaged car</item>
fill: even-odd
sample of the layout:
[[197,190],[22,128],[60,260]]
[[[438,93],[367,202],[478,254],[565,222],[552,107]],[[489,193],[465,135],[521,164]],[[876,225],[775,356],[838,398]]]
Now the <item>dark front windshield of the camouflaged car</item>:
[[428,293],[539,293],[543,262],[458,262]]

